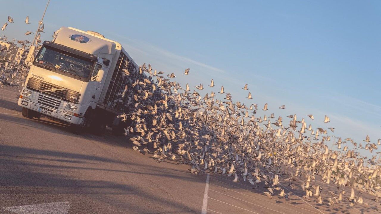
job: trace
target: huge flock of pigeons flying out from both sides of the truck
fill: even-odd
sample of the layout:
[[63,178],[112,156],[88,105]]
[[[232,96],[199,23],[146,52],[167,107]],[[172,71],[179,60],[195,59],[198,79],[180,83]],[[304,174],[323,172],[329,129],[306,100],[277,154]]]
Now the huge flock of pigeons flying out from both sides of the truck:
[[[7,81],[18,78],[21,83],[27,67],[4,61],[0,61],[1,72],[11,73]],[[223,86],[218,92],[222,99],[217,99],[213,91],[202,93],[206,90],[202,84],[192,92],[188,84],[183,88],[174,81],[174,73],[165,76],[152,70],[150,64],[141,65],[137,75],[124,71],[128,80],[115,102],[124,104],[125,113],[118,117],[131,124],[125,135],[130,136],[134,150],[152,153],[159,162],[188,164],[194,174],[213,172],[231,176],[234,182],[247,181],[254,189],[265,188],[269,198],[288,198],[291,192],[284,186],[293,191],[300,186],[305,200],[327,206],[359,204],[378,210],[381,160],[376,158],[380,153],[376,151],[381,139],[367,136],[363,146],[351,138],[331,135],[334,128],[313,128],[308,124],[315,119],[313,115],[262,115],[271,110],[267,104],[258,110],[257,104],[233,101]],[[183,75],[189,75],[189,69]],[[213,80],[208,87],[215,87]],[[248,84],[242,89],[248,91]],[[250,92],[247,99],[253,99]],[[285,109],[285,105],[279,109]],[[321,121],[325,126],[330,118],[325,116]],[[327,145],[331,137],[337,140],[335,149]],[[154,151],[149,150],[152,147]],[[364,157],[359,149],[376,155]],[[334,191],[329,191],[327,185]],[[373,198],[364,200],[363,194]]]

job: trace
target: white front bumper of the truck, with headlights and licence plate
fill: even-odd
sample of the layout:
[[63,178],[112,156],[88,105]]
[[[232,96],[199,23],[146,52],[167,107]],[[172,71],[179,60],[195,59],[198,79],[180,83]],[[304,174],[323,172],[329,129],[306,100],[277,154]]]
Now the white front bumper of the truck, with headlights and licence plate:
[[[22,91],[23,90],[21,90],[21,92]],[[48,105],[44,105],[43,102],[40,102],[39,99],[35,99],[35,97],[40,97],[40,96],[48,97],[51,100],[57,100],[54,97],[50,97],[50,96],[47,96],[45,94],[41,94],[41,93],[34,91],[32,96],[30,96],[30,97],[20,95],[19,100],[18,100],[18,105],[21,107],[24,107],[26,109],[30,109],[30,110],[33,110],[35,112],[41,113],[42,115],[45,115],[51,119],[56,119],[56,120],[62,121],[64,123],[71,123],[71,124],[78,125],[82,122],[81,117],[75,117],[74,115],[67,113],[68,111],[65,109],[61,109],[61,108],[55,109],[55,108],[52,108]],[[40,103],[38,103],[38,102],[40,102]],[[61,107],[62,106],[66,107],[67,103],[64,103],[64,101],[59,101],[59,102],[62,103]],[[69,120],[69,118],[70,118],[70,120]]]

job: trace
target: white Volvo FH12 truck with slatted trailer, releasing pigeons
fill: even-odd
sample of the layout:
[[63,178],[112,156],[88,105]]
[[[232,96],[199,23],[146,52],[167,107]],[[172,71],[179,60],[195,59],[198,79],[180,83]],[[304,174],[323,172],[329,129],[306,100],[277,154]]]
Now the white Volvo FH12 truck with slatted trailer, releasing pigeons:
[[124,133],[116,116],[123,112],[127,75],[139,67],[120,43],[93,31],[61,27],[52,42],[43,42],[30,67],[18,105],[22,116],[70,125],[73,133],[85,128],[104,133]]

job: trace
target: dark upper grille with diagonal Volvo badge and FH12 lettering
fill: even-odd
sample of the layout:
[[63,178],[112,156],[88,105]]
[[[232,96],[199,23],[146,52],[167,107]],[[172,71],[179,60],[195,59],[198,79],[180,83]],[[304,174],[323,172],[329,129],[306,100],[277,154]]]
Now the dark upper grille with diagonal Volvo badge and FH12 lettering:
[[[43,94],[56,97],[63,101],[78,103],[80,94],[70,89],[62,89],[61,86],[47,83],[36,78],[29,78],[27,88],[37,90]],[[53,90],[52,90],[53,89]],[[62,89],[62,90],[57,90]],[[45,91],[48,90],[48,91]]]

